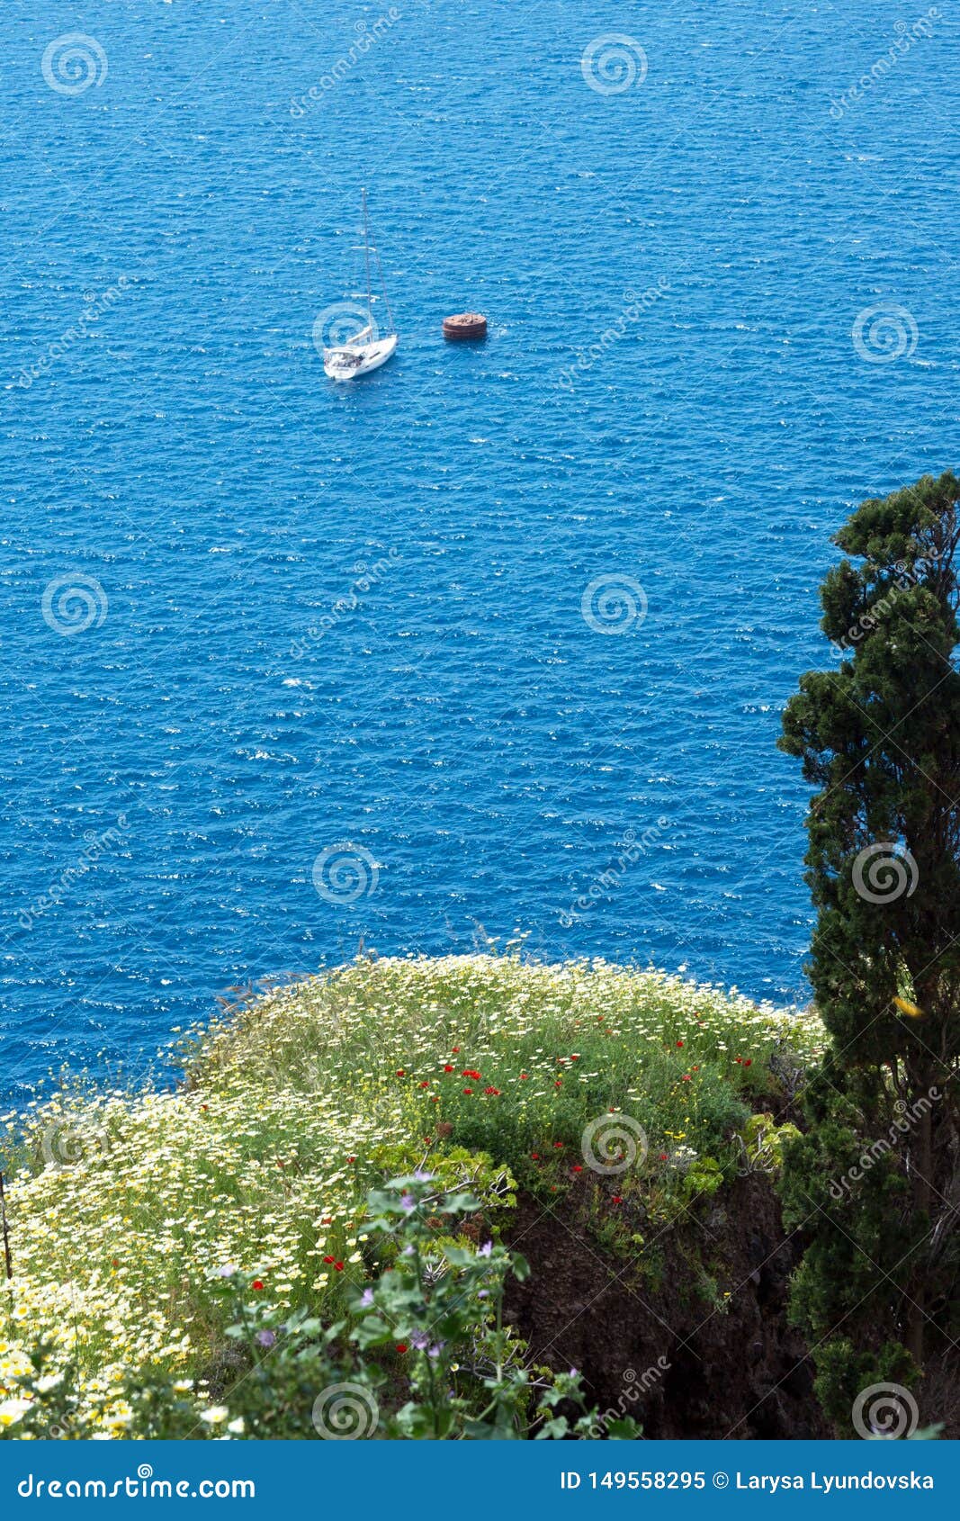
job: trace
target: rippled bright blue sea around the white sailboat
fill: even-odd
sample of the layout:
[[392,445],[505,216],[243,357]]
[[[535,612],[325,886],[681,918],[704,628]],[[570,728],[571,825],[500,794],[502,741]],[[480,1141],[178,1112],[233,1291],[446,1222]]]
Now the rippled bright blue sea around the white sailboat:
[[0,1091],[361,945],[803,1002],[831,534],[957,464],[955,8],[3,26]]

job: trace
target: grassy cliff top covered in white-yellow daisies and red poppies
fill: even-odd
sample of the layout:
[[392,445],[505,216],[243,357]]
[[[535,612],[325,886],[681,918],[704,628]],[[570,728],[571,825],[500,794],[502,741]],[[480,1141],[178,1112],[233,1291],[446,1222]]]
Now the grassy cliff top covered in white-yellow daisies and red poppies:
[[225,1267],[333,1319],[368,1272],[368,1189],[424,1161],[485,1154],[493,1217],[584,1173],[612,1214],[707,1161],[726,1176],[822,1039],[815,1016],[657,972],[490,955],[359,960],[243,1002],[187,1036],[175,1091],[8,1121],[0,1422],[44,1338],[49,1377],[82,1384],[76,1434],[125,1434],[137,1369],[202,1381]]

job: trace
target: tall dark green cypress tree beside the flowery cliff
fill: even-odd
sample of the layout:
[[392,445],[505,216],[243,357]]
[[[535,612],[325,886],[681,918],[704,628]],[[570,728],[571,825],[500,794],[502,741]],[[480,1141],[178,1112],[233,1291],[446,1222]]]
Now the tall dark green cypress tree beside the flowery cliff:
[[808,1246],[793,1308],[828,1415],[910,1380],[957,1335],[960,1206],[960,481],[867,500],[837,535],[822,628],[780,748],[815,788],[809,975],[831,1036],[788,1148]]

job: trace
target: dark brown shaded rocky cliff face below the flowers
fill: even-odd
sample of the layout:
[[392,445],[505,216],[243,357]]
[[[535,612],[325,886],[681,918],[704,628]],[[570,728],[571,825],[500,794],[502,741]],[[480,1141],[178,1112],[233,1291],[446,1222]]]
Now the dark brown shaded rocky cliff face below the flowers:
[[507,1308],[532,1361],[580,1369],[589,1402],[631,1415],[651,1439],[831,1436],[787,1323],[799,1246],[770,1180],[747,1176],[675,1224],[641,1230],[633,1258],[612,1255],[586,1194],[580,1208],[520,1199],[505,1234],[531,1276]]

